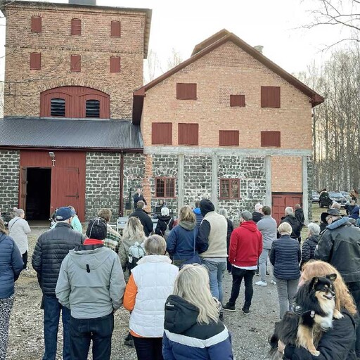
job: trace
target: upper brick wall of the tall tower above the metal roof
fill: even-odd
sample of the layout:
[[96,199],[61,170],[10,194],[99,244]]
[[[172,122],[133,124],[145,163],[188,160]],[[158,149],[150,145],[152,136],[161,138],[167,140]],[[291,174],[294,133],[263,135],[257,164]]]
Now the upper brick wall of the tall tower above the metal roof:
[[[109,94],[110,117],[130,119],[143,84],[146,13],[32,4],[6,6],[4,115],[39,116],[41,91],[77,85]],[[42,18],[40,34],[30,31],[32,15]],[[82,20],[81,36],[70,34],[72,18]],[[121,21],[120,38],[110,37],[112,20]],[[41,53],[41,70],[30,70],[32,52]],[[81,72],[70,72],[70,55],[82,56]],[[120,73],[110,73],[110,56],[121,57]]]

